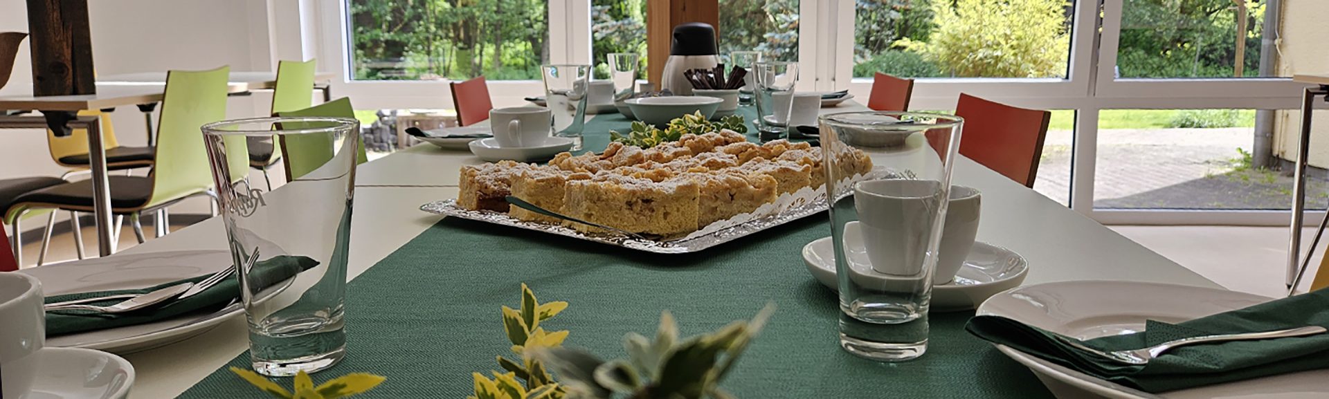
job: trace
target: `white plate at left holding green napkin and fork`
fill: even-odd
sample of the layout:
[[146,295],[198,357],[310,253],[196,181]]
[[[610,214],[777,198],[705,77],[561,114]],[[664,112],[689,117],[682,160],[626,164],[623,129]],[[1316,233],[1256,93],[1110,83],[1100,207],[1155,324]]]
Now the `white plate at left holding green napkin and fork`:
[[[231,265],[229,251],[175,251],[121,253],[73,262],[23,269],[41,281],[43,293],[60,296],[81,292],[138,289],[198,277]],[[213,313],[194,313],[171,319],[116,329],[47,338],[48,347],[85,347],[118,354],[148,350],[202,334],[245,314],[237,304]]]

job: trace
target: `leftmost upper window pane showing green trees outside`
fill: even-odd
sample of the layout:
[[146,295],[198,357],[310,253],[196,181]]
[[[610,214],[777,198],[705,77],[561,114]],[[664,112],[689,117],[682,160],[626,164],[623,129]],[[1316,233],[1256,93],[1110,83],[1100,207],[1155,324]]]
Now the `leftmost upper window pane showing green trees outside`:
[[541,0],[347,0],[354,80],[540,80]]

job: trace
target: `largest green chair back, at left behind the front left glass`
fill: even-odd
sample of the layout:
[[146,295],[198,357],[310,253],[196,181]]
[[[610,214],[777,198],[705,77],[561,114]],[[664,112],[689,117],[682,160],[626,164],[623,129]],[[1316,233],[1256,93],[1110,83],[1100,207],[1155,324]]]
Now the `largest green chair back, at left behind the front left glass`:
[[[158,119],[153,167],[153,195],[146,207],[162,204],[213,187],[201,126],[226,118],[226,81],[230,66],[213,70],[171,70]],[[245,137],[226,138],[231,179],[249,172]]]

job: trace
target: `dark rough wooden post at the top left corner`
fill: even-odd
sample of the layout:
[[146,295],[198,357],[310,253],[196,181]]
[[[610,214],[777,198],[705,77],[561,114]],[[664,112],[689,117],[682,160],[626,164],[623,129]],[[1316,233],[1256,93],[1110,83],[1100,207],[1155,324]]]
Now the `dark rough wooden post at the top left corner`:
[[96,94],[88,0],[28,0],[32,94]]

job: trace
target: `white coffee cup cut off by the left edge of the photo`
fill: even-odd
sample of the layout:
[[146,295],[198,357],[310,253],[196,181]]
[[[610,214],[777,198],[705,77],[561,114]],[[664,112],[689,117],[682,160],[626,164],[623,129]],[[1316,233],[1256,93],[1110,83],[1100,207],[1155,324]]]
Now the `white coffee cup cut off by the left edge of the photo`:
[[41,282],[0,273],[0,398],[24,398],[37,376],[37,350],[47,341]]

